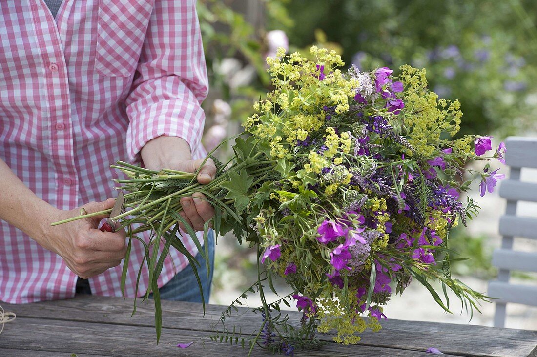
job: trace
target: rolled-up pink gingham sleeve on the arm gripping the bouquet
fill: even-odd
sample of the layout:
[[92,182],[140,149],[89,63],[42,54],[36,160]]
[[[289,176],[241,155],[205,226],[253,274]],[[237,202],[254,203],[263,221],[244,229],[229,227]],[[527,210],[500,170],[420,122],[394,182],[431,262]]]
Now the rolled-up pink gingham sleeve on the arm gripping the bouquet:
[[157,0],[133,90],[126,99],[129,158],[157,136],[184,139],[198,150],[205,124],[207,68],[195,0]]

